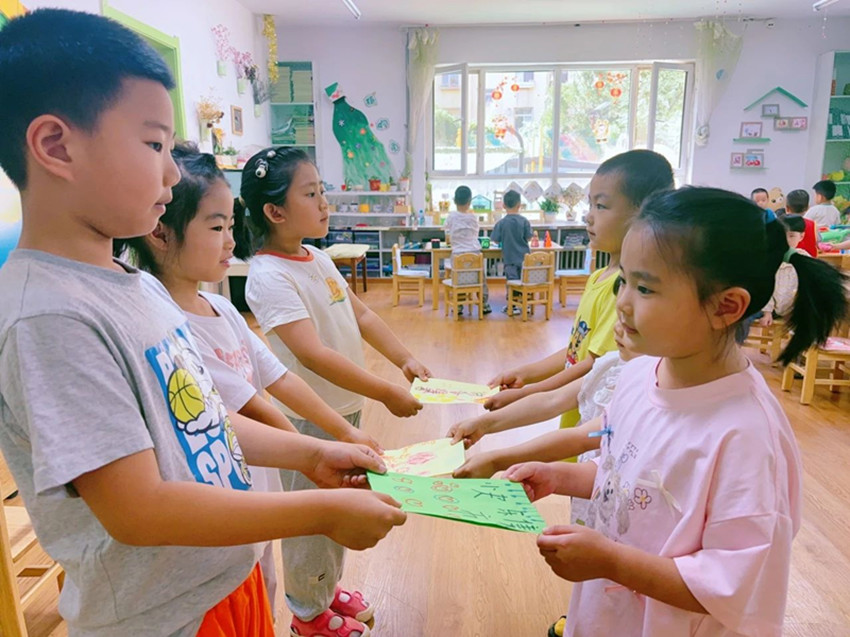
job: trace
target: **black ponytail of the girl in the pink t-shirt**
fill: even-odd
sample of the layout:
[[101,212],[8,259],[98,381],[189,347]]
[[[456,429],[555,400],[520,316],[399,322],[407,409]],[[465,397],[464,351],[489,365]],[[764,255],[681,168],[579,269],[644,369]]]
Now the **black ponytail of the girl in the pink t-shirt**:
[[797,272],[797,296],[788,317],[791,340],[779,356],[787,365],[814,344],[821,345],[850,316],[848,277],[825,261],[789,250],[785,261]]

